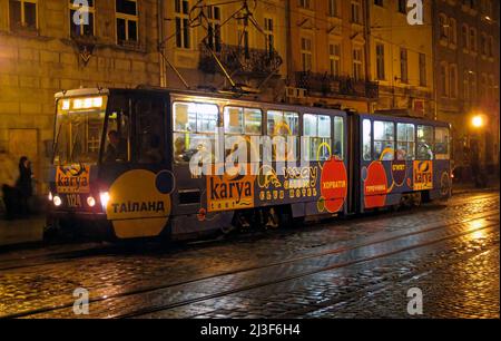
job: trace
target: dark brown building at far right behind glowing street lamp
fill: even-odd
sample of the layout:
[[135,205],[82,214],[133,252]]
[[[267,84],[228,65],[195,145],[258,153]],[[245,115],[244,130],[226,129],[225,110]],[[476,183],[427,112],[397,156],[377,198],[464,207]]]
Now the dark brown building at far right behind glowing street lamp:
[[452,124],[458,175],[468,178],[472,162],[499,167],[499,1],[438,0],[433,12],[436,117]]

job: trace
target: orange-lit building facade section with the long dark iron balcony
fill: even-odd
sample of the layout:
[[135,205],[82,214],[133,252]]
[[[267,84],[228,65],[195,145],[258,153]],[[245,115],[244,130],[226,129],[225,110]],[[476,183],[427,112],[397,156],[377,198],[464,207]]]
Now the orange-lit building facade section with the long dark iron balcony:
[[366,1],[287,1],[287,80],[305,90],[289,101],[370,110],[377,85],[367,72]]

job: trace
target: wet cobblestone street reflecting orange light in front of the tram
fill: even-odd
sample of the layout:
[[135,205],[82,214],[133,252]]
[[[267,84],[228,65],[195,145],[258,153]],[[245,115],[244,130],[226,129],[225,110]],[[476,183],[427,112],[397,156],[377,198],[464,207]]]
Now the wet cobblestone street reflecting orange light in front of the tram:
[[499,192],[475,192],[205,243],[10,252],[0,316],[77,318],[82,288],[88,318],[410,318],[419,288],[413,318],[499,318]]

